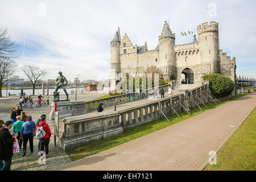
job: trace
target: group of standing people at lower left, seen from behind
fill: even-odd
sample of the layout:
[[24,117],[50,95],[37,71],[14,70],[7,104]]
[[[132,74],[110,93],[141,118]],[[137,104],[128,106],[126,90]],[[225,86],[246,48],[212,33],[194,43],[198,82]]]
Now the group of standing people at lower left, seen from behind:
[[[26,118],[25,121],[23,119]],[[13,134],[10,134],[10,129],[13,127]],[[30,152],[33,153],[33,139],[40,131],[44,131],[44,135],[39,139],[38,152],[45,151],[46,158],[49,157],[49,139],[51,137],[51,130],[46,123],[46,115],[43,114],[35,123],[31,116],[27,116],[24,112],[22,115],[16,116],[16,121],[4,122],[0,119],[0,171],[10,171],[11,159],[13,156],[13,143],[15,138],[18,140],[19,149],[23,143],[23,156],[26,156],[27,142],[30,143]],[[37,137],[38,138],[38,137]],[[20,150],[21,152],[21,150]],[[43,159],[43,154],[41,154]]]

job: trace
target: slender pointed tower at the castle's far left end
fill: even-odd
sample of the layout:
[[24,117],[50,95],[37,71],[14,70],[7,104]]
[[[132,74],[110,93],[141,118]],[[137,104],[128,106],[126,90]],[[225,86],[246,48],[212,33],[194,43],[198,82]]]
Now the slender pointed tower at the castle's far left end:
[[120,31],[115,32],[112,42],[110,42],[110,86],[111,90],[115,89],[115,78],[120,73]]

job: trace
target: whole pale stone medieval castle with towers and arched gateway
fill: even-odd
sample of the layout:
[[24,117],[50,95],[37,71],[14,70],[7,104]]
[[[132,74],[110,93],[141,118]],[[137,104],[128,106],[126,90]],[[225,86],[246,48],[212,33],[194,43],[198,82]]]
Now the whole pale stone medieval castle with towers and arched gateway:
[[144,46],[133,45],[125,34],[121,40],[120,30],[110,43],[112,86],[118,73],[141,75],[152,65],[160,68],[164,80],[175,80],[181,84],[181,74],[189,78],[191,84],[201,85],[202,76],[221,73],[236,81],[236,58],[230,59],[220,49],[218,23],[203,23],[197,27],[197,37],[187,44],[175,44],[175,34],[167,22],[164,23],[159,44],[154,50]]

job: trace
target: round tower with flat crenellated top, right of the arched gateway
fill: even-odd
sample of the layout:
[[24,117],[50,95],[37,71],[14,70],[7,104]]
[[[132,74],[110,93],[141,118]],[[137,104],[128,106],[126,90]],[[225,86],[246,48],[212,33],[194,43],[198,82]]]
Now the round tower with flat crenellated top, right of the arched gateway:
[[201,73],[220,73],[218,23],[203,23],[197,27],[201,49]]

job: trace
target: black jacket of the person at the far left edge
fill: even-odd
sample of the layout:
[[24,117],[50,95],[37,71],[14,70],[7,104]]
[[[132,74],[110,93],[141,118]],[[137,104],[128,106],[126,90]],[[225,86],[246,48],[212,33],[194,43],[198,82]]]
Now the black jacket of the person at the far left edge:
[[0,131],[0,160],[9,159],[13,156],[14,140],[8,129],[4,128]]

